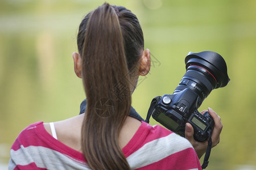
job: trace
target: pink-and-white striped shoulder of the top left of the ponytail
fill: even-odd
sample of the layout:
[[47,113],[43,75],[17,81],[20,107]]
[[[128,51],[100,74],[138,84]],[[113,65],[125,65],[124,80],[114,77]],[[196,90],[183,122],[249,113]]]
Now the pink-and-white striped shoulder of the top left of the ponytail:
[[44,128],[43,122],[36,122],[22,130],[11,147],[10,155],[9,169],[87,167],[82,153],[53,138]]

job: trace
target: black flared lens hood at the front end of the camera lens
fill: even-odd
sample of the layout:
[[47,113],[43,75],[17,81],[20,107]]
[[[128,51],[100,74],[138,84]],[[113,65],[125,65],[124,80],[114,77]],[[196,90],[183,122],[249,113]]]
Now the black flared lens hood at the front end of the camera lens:
[[212,51],[204,51],[200,53],[189,52],[185,58],[186,69],[191,65],[203,67],[209,71],[217,80],[215,88],[225,87],[230,79],[227,73],[226,62],[220,54]]

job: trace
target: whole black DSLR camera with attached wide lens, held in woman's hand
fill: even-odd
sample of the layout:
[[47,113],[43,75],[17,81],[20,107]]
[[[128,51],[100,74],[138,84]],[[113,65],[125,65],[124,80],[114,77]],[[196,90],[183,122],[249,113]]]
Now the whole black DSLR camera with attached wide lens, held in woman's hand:
[[147,113],[175,133],[185,136],[185,123],[194,129],[196,141],[205,141],[212,134],[213,118],[197,109],[212,90],[225,87],[230,79],[226,62],[220,54],[211,51],[189,52],[185,57],[186,73],[172,95],[155,97]]

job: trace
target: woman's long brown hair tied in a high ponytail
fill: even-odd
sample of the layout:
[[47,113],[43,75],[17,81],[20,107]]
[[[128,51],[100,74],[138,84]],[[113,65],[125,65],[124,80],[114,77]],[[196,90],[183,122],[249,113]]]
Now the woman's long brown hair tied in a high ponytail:
[[136,69],[143,33],[137,17],[108,3],[82,20],[77,45],[87,107],[82,152],[92,169],[130,169],[118,135],[131,108],[131,70]]

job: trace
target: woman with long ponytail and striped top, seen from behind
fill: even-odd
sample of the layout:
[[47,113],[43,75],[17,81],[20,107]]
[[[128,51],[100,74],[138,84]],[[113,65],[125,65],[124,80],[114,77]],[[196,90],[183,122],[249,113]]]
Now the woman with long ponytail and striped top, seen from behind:
[[[137,17],[125,7],[104,3],[86,15],[77,36],[79,53],[73,53],[75,73],[84,83],[85,113],[28,126],[11,148],[9,169],[201,169],[207,142],[193,139],[190,124],[189,143],[129,116],[138,77],[150,71],[143,41]],[[222,124],[208,111],[215,146]]]

